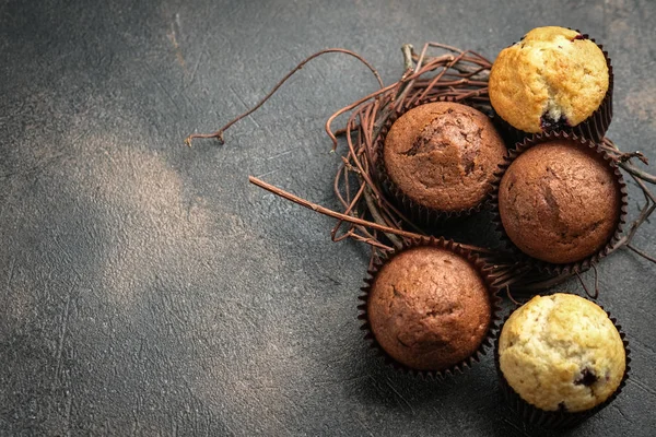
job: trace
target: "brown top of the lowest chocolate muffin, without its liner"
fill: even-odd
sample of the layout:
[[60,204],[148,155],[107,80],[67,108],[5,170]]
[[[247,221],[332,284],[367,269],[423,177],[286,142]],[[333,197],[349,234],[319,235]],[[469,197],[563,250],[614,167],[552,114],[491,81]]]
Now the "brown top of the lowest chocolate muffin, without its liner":
[[397,362],[444,370],[487,336],[492,307],[478,271],[450,250],[425,246],[391,258],[376,274],[367,317],[376,341]]

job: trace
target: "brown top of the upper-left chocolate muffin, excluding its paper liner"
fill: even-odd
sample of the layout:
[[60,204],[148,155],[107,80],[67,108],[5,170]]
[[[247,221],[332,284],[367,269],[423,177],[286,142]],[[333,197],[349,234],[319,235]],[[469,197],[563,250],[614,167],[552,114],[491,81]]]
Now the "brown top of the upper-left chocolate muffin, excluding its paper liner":
[[383,160],[389,178],[419,205],[462,211],[480,204],[506,147],[489,117],[456,103],[431,103],[391,126]]

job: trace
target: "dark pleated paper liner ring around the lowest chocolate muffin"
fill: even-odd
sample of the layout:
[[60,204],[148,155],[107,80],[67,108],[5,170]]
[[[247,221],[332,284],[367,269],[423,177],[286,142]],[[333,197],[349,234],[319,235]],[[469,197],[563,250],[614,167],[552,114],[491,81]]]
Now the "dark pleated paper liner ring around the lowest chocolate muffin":
[[[380,346],[378,341],[376,340],[373,330],[371,329],[368,322],[368,312],[367,312],[367,304],[371,295],[371,287],[375,282],[376,275],[380,271],[380,268],[394,259],[397,255],[415,248],[415,247],[436,247],[441,249],[449,250],[465,260],[467,260],[480,274],[483,280],[483,283],[489,292],[490,298],[490,309],[491,309],[491,318],[490,326],[488,327],[488,332],[485,336],[481,341],[481,344],[476,350],[476,352],[470,355],[468,358],[464,359],[460,363],[454,364],[450,367],[441,370],[420,370],[412,367],[409,367],[394,357],[391,357],[384,349]],[[447,240],[445,238],[434,238],[434,237],[425,237],[421,239],[412,239],[405,240],[403,248],[399,250],[395,250],[393,252],[387,253],[384,258],[376,260],[373,268],[367,272],[370,277],[366,277],[364,282],[365,286],[361,288],[363,294],[359,296],[359,299],[362,300],[362,304],[358,306],[358,309],[361,311],[358,316],[358,319],[362,320],[361,330],[365,331],[364,339],[370,341],[370,347],[375,351],[375,353],[383,358],[383,362],[389,366],[391,366],[397,371],[402,374],[411,375],[414,377],[420,377],[423,379],[437,379],[442,380],[444,378],[453,377],[456,374],[461,374],[466,369],[470,368],[476,363],[480,362],[481,356],[485,355],[487,350],[492,346],[492,341],[494,338],[494,331],[496,330],[497,323],[501,320],[501,298],[499,297],[499,288],[493,285],[494,283],[494,273],[493,268],[487,264],[483,260],[481,260],[477,255],[472,253],[470,250],[462,248],[460,245],[453,240]]]

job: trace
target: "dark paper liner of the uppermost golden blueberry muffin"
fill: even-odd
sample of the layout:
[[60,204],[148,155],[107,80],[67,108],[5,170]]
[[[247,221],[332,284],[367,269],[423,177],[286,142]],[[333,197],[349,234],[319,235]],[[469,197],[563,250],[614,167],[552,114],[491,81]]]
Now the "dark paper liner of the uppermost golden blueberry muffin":
[[[578,31],[576,31],[578,32]],[[578,32],[581,33],[581,32]],[[589,39],[593,43],[597,44],[594,38],[590,38],[587,34],[582,34],[585,39]],[[610,126],[610,121],[612,120],[612,91],[613,91],[613,72],[612,66],[610,63],[610,58],[608,57],[608,51],[604,50],[604,46],[601,44],[597,44],[597,47],[604,54],[606,58],[606,64],[608,66],[608,90],[606,91],[606,96],[601,101],[601,104],[588,118],[579,122],[574,127],[569,128],[557,128],[550,129],[544,132],[553,132],[553,131],[562,131],[567,133],[573,133],[576,137],[585,138],[591,140],[594,142],[600,142],[606,135],[606,131]],[[522,142],[525,138],[531,137],[535,133],[524,132],[515,127],[513,127],[507,121],[503,120],[501,117],[499,118],[499,127],[504,132],[504,138],[512,142]]]

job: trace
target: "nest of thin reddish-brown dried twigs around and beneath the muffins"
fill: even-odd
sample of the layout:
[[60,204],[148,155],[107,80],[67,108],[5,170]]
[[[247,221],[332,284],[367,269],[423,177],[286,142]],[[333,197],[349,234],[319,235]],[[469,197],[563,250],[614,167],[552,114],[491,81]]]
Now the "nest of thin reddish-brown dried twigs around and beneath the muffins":
[[[440,55],[429,56],[430,50],[438,50]],[[332,240],[340,241],[351,238],[370,245],[372,247],[371,265],[376,258],[385,252],[402,247],[405,239],[427,236],[425,231],[413,224],[394,205],[376,178],[374,146],[385,123],[399,110],[435,99],[467,102],[483,111],[491,111],[488,96],[488,78],[492,63],[483,56],[471,50],[460,50],[437,43],[425,44],[419,54],[408,44],[402,46],[401,51],[405,60],[405,72],[399,81],[387,86],[383,84],[376,69],[360,55],[341,48],[318,51],[298,63],[251,109],[234,118],[215,132],[194,133],[185,142],[191,146],[194,139],[215,138],[223,143],[223,133],[229,128],[260,108],[288,79],[319,56],[339,52],[356,58],[372,71],[380,88],[341,108],[326,121],[326,132],[332,141],[332,149],[338,147],[338,137],[343,137],[347,142],[347,153],[341,156],[342,162],[333,181],[335,193],[342,206],[341,212],[302,199],[256,177],[250,176],[249,181],[276,196],[336,218],[337,224],[331,231]],[[349,114],[345,127],[332,130],[333,121],[343,114]],[[640,226],[656,210],[656,197],[647,187],[647,184],[656,185],[656,176],[633,164],[633,160],[640,160],[645,165],[648,164],[647,158],[642,153],[622,152],[609,139],[604,139],[601,149],[633,178],[642,189],[645,198],[645,203],[637,217],[612,246],[610,252],[626,247],[656,263],[656,258],[632,245],[633,237]],[[353,181],[356,181],[356,186],[353,186]],[[461,246],[478,253],[488,263],[488,268],[495,276],[495,285],[505,287],[508,290],[508,294],[511,288],[519,293],[539,293],[573,275],[578,276],[581,280],[579,274],[582,271],[549,275],[537,272],[524,262],[515,261],[509,253],[502,250],[465,244],[461,244]],[[594,271],[594,295],[596,296],[598,294],[597,269],[595,268]],[[585,284],[584,288],[589,295]]]

